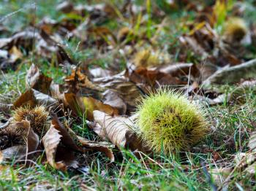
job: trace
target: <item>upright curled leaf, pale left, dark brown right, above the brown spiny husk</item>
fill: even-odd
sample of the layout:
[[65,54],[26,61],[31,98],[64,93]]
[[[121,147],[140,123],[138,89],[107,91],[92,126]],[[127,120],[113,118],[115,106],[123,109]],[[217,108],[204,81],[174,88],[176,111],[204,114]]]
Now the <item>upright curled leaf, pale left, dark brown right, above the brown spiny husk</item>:
[[38,67],[34,63],[30,66],[26,74],[26,87],[38,90],[41,93],[49,94],[50,82],[53,79],[41,74]]

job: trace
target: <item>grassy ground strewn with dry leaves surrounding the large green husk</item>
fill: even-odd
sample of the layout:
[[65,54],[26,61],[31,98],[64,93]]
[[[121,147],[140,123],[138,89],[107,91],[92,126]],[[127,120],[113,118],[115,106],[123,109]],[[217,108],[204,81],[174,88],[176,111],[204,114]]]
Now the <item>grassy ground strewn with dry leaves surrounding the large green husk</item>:
[[[0,130],[0,190],[256,190],[255,12],[255,1],[1,1],[0,128],[37,105],[58,125]],[[206,112],[188,150],[138,157],[95,130],[94,110],[131,117],[161,87]]]

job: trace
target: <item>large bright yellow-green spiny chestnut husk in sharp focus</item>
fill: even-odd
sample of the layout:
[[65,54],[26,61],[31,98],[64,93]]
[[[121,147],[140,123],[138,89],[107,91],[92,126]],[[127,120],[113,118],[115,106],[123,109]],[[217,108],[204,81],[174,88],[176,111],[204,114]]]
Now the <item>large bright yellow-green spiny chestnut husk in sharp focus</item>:
[[138,106],[138,128],[144,143],[170,155],[189,149],[207,133],[205,114],[184,95],[159,90]]

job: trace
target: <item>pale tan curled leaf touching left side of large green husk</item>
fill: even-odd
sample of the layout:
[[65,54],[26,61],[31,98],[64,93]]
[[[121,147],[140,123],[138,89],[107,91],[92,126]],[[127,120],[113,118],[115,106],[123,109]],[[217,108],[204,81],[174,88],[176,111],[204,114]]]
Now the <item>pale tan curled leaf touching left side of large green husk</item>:
[[94,121],[97,122],[93,128],[94,132],[102,139],[111,141],[119,149],[147,151],[135,131],[132,130],[134,124],[129,118],[111,117],[104,112],[94,111]]

